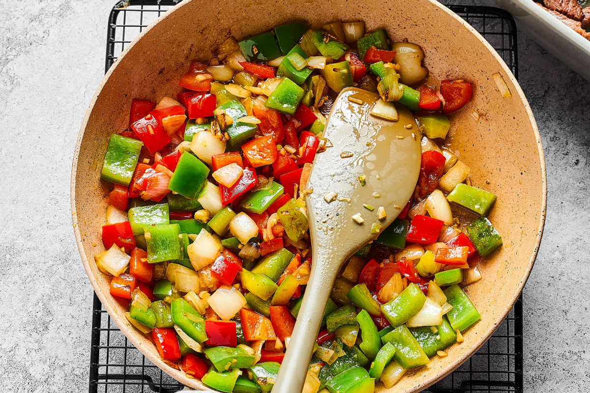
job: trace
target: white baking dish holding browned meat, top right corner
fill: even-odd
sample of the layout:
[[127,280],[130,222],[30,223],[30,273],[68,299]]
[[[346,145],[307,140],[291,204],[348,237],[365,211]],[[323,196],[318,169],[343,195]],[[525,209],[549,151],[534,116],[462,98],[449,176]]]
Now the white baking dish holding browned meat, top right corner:
[[573,71],[590,81],[590,41],[585,39],[533,0],[496,0],[533,38]]

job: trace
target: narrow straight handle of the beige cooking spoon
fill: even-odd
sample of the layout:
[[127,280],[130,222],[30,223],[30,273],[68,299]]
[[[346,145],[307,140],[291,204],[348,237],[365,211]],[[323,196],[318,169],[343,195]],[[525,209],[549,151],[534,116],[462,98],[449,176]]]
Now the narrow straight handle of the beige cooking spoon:
[[[312,270],[318,271],[312,272],[307,283],[289,348],[274,383],[273,393],[301,393],[303,389],[313,345],[316,342],[324,309],[338,270],[333,267],[334,263],[314,261],[314,265]],[[328,266],[332,269],[326,269]]]

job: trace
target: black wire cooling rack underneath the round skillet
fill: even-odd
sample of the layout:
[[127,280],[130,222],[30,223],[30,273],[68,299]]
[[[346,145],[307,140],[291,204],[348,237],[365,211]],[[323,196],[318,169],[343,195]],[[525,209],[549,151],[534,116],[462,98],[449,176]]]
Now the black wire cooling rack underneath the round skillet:
[[[105,71],[129,42],[175,0],[122,0],[109,15]],[[516,25],[499,8],[449,5],[477,29],[518,76]],[[432,393],[522,392],[522,298],[496,333],[467,362],[426,391]],[[123,335],[94,295],[90,393],[173,393],[183,386],[146,359]]]

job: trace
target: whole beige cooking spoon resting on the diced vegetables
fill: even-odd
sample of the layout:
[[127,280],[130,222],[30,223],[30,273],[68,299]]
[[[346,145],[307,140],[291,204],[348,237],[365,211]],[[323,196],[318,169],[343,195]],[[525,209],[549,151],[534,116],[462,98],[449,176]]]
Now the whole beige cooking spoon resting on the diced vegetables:
[[[399,120],[369,114],[379,96],[358,88],[340,93],[316,156],[307,189],[312,272],[274,393],[301,393],[324,308],[342,263],[391,224],[414,192],[420,170],[420,133],[412,113],[396,105]],[[364,175],[365,185],[359,176]],[[335,194],[336,193],[336,196]],[[326,202],[332,200],[332,202]],[[379,207],[385,219],[378,219]],[[362,217],[355,220],[353,217]]]

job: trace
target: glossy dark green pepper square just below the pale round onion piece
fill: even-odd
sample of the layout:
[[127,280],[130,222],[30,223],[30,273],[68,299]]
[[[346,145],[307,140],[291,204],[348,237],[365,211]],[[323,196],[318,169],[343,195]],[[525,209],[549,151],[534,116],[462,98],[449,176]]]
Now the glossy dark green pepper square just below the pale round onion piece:
[[209,168],[188,151],[182,153],[178,165],[172,177],[168,188],[177,194],[181,194],[190,199],[196,199],[199,191],[203,188]]

